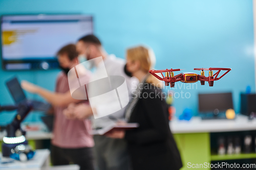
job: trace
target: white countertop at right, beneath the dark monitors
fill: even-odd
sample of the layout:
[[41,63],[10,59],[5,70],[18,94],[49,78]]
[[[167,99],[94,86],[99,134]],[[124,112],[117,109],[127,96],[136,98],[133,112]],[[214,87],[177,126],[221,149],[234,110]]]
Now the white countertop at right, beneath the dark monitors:
[[170,122],[172,133],[205,133],[205,132],[231,132],[256,130],[256,119],[248,120],[245,115],[237,115],[236,119],[209,119],[192,117],[187,120],[172,120]]

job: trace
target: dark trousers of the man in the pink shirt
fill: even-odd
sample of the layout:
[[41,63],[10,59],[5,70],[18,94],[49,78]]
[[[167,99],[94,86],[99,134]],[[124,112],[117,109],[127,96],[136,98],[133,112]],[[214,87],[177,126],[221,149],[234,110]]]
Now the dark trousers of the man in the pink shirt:
[[74,163],[80,166],[80,170],[94,170],[92,148],[66,149],[52,145],[51,161],[53,165]]

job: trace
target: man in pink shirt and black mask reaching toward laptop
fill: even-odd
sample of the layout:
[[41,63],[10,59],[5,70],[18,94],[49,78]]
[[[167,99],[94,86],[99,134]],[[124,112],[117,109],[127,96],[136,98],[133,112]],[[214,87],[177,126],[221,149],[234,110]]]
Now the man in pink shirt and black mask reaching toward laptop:
[[[57,59],[62,71],[56,81],[55,92],[48,91],[27,81],[22,81],[23,89],[36,93],[47,100],[54,107],[54,129],[51,141],[51,160],[53,165],[68,165],[71,162],[78,164],[80,169],[94,169],[93,150],[94,141],[89,134],[91,122],[89,119],[68,119],[63,115],[63,110],[70,103],[78,103],[80,100],[72,98],[68,71],[78,64],[75,44],[62,47],[57,53]],[[90,72],[87,72],[90,78]],[[85,103],[83,101],[83,103]],[[85,103],[88,105],[88,102]]]

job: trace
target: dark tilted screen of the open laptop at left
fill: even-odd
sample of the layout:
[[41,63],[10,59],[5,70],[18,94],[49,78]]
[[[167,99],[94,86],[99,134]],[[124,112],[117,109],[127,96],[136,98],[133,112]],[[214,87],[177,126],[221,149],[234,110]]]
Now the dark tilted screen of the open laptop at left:
[[6,82],[6,85],[14,99],[16,104],[24,101],[26,99],[26,95],[24,94],[22,87],[17,80],[17,78],[13,78]]

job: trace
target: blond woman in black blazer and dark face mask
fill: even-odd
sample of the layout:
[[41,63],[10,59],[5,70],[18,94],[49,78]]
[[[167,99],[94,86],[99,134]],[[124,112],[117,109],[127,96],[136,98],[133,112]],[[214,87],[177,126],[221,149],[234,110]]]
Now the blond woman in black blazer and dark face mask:
[[129,48],[126,60],[127,71],[140,83],[126,107],[125,118],[138,123],[139,128],[113,131],[108,136],[127,140],[133,170],[180,169],[182,162],[170,131],[168,106],[161,98],[161,84],[148,72],[152,68],[150,50],[143,46]]

